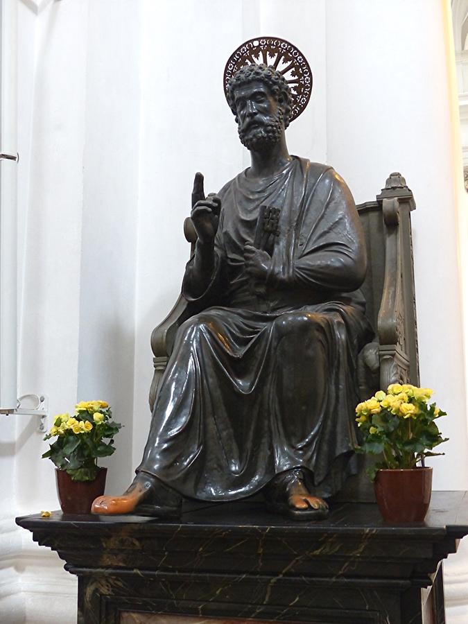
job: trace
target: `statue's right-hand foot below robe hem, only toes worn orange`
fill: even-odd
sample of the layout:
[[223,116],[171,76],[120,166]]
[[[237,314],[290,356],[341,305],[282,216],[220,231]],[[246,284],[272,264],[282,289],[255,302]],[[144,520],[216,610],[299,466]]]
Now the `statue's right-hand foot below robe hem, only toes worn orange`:
[[322,520],[328,516],[327,503],[312,496],[301,469],[293,468],[277,475],[264,494],[268,511],[284,514],[293,520]]

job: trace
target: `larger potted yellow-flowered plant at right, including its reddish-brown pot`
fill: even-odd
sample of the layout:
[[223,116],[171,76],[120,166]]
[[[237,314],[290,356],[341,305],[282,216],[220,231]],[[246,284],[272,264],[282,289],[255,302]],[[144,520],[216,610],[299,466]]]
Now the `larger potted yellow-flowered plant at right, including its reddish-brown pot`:
[[387,392],[379,390],[356,407],[362,434],[356,451],[381,456],[370,476],[385,521],[423,521],[426,516],[432,468],[424,467],[424,458],[443,455],[432,449],[448,439],[435,422],[446,413],[429,403],[432,394],[429,388],[392,383]]

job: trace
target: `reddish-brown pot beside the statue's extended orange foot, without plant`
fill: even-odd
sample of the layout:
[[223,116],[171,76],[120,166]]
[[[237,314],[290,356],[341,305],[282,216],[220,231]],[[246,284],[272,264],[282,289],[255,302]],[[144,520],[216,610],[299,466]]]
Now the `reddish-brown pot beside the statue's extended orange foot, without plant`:
[[64,514],[89,514],[97,496],[104,494],[107,468],[99,468],[94,481],[73,481],[64,470],[55,468],[57,494]]

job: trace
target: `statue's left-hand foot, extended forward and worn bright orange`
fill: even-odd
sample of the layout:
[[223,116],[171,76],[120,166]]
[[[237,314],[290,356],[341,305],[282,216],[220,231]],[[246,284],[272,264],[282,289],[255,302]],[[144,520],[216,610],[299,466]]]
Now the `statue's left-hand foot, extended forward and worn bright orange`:
[[155,476],[138,472],[122,496],[98,496],[92,514],[136,514],[159,518],[177,518],[182,511],[182,496]]

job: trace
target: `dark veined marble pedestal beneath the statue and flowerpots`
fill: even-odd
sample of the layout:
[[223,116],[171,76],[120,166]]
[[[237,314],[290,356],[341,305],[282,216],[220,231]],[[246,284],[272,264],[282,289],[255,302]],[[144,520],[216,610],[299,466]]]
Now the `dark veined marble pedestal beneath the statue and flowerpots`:
[[443,624],[440,562],[468,534],[468,494],[433,492],[425,523],[399,526],[372,503],[298,523],[254,501],[17,523],[78,576],[78,624]]

